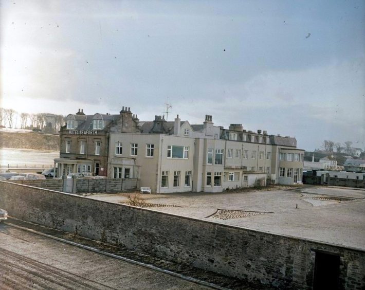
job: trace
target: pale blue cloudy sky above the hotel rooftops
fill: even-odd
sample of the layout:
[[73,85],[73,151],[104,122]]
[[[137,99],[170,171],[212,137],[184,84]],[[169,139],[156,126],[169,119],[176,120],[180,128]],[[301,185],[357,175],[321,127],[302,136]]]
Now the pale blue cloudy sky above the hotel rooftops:
[[20,113],[148,121],[169,103],[168,120],[365,149],[363,1],[0,0],[0,60]]

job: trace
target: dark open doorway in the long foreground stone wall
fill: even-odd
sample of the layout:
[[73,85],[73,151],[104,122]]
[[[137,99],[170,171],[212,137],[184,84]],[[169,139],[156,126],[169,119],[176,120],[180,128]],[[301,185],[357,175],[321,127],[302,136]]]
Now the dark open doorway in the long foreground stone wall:
[[340,257],[330,253],[316,252],[313,289],[339,288]]

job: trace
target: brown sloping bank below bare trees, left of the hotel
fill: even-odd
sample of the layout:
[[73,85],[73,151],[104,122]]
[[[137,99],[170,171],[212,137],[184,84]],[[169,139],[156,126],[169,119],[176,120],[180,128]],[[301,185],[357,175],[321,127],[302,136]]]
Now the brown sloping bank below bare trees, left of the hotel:
[[60,136],[31,132],[0,132],[0,148],[59,151]]

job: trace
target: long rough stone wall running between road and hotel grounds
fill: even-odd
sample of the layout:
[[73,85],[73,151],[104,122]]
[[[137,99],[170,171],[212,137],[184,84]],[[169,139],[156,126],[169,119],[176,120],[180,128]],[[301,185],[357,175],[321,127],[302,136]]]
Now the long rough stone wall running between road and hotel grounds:
[[365,287],[365,252],[0,182],[16,218],[285,289],[312,287],[315,251],[340,256],[340,288]]

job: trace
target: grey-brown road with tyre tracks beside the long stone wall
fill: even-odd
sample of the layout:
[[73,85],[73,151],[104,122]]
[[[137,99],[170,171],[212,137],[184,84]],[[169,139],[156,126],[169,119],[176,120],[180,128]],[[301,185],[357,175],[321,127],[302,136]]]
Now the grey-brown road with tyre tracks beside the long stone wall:
[[0,224],[1,289],[207,289]]

